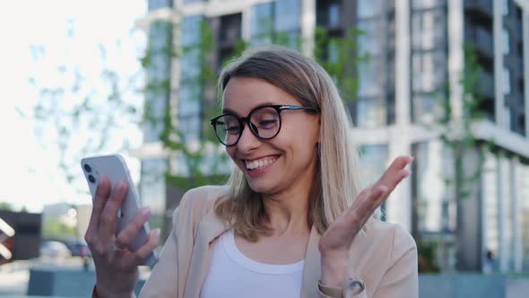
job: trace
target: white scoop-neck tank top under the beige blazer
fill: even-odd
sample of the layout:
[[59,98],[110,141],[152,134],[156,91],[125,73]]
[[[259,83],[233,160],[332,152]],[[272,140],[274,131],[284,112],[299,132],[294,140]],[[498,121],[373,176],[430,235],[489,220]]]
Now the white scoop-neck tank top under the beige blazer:
[[213,248],[200,298],[299,297],[304,262],[259,263],[238,250],[233,230],[223,232]]

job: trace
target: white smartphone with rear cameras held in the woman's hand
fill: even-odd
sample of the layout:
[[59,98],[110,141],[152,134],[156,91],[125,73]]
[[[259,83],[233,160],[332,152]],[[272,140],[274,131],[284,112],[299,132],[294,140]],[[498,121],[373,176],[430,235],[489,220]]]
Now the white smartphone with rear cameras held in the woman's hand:
[[[121,208],[117,212],[117,224],[116,224],[116,235],[126,228],[126,225],[132,221],[134,215],[141,207],[140,199],[134,182],[130,177],[128,167],[126,166],[125,159],[119,154],[112,155],[101,155],[86,157],[81,160],[81,167],[84,173],[84,177],[88,182],[90,188],[91,197],[95,197],[96,189],[100,182],[100,178],[107,177],[110,180],[112,188],[117,187],[119,181],[125,181],[128,184],[128,191],[126,198],[121,204]],[[143,246],[147,241],[147,236],[151,231],[149,223],[143,224],[143,228],[138,232],[136,237],[128,246],[131,251],[136,251]],[[154,266],[158,260],[157,250],[153,250],[152,253],[144,259],[143,265]]]

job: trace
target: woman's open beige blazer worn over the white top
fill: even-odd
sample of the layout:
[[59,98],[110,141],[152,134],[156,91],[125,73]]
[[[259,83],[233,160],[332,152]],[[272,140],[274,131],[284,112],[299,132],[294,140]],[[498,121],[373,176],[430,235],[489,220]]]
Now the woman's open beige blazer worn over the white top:
[[[215,200],[225,187],[189,190],[173,216],[160,260],[143,286],[141,298],[197,298],[208,273],[214,241],[230,227],[214,213]],[[320,235],[313,228],[305,254],[302,298],[327,297],[318,291]],[[418,296],[417,249],[412,236],[393,223],[373,222],[351,247],[351,276],[366,285],[357,297],[415,298]]]

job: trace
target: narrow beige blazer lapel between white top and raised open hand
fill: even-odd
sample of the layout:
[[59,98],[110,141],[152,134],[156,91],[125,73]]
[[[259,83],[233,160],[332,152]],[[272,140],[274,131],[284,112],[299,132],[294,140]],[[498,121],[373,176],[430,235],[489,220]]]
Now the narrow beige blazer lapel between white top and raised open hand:
[[301,298],[319,298],[319,294],[317,293],[317,281],[321,276],[321,259],[317,246],[319,238],[320,234],[313,226],[308,236],[307,250],[305,251]]

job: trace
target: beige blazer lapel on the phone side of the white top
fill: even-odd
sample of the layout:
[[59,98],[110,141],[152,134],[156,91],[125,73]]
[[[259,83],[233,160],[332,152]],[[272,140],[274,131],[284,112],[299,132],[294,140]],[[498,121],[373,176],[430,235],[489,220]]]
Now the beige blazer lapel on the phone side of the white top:
[[204,219],[198,224],[184,291],[185,298],[196,298],[199,296],[200,289],[209,270],[210,260],[212,259],[212,241],[228,229],[229,226],[215,215],[214,210],[206,214]]

